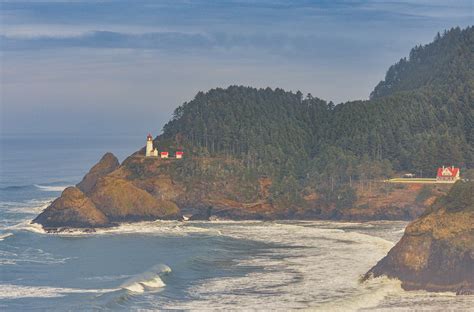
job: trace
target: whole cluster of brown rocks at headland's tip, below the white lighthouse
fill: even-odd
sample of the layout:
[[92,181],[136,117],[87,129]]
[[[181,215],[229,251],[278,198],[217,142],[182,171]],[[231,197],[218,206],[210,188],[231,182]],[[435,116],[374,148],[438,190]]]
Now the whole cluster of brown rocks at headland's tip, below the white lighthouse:
[[104,227],[119,221],[181,218],[178,206],[165,195],[172,193],[169,179],[166,183],[159,183],[159,179],[156,183],[146,183],[130,179],[129,175],[117,158],[107,153],[76,187],[65,189],[33,222],[54,230]]

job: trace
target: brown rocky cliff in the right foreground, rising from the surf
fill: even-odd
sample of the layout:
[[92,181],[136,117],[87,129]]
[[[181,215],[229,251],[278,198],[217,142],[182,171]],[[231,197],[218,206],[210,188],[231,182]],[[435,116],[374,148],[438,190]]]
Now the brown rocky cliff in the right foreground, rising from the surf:
[[474,182],[457,182],[412,222],[366,275],[387,275],[407,290],[474,291]]

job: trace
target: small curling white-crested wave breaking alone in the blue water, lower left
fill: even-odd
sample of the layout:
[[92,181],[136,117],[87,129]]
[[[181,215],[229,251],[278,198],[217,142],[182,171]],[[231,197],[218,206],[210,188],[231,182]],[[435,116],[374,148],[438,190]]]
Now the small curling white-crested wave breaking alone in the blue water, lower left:
[[128,290],[132,293],[144,293],[145,291],[158,290],[165,287],[161,277],[169,274],[171,268],[165,264],[158,264],[153,266],[147,272],[139,274],[127,281],[125,281],[120,288]]

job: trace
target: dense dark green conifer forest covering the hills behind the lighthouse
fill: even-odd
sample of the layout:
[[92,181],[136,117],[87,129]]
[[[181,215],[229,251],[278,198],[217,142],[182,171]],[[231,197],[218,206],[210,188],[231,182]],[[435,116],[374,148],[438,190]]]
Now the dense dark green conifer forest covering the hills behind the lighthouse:
[[239,172],[272,177],[286,195],[315,187],[350,197],[357,180],[473,168],[474,27],[413,48],[366,101],[335,105],[243,86],[199,92],[175,110],[157,143],[238,160]]

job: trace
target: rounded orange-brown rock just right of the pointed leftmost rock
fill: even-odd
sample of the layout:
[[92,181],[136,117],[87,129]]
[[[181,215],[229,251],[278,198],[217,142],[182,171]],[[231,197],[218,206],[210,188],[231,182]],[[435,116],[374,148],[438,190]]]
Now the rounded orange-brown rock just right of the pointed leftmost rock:
[[132,182],[106,176],[97,181],[90,198],[111,221],[178,219],[178,206],[153,197]]

